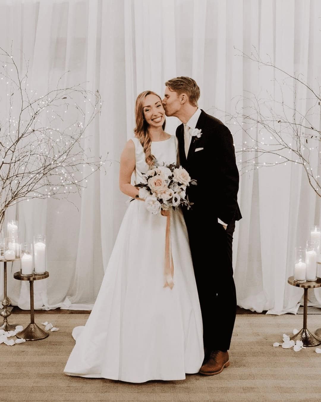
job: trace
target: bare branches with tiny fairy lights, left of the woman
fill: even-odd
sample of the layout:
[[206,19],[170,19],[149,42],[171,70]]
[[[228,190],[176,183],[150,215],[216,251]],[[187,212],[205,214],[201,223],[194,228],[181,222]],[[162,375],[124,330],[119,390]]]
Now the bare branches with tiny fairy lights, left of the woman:
[[[29,88],[28,66],[20,77],[14,58],[0,48],[0,230],[6,209],[33,198],[68,198],[104,168],[88,156],[84,132],[100,113],[97,91],[81,84],[38,94]],[[106,174],[106,170],[105,170]]]

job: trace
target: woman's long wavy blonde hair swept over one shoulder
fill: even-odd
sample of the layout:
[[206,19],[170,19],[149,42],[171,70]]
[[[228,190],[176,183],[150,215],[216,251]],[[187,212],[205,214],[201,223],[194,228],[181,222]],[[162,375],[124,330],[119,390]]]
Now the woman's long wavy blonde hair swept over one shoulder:
[[[148,134],[148,124],[144,119],[144,100],[147,95],[156,95],[158,98],[160,96],[153,91],[144,91],[137,96],[136,105],[135,105],[135,120],[136,120],[136,127],[134,128],[135,137],[139,139],[140,144],[142,144],[144,153],[145,153],[145,161],[148,166],[152,166],[155,161],[154,155],[151,152],[151,143],[152,140]],[[160,101],[162,99],[160,98]],[[163,130],[165,129],[165,122],[163,124]]]

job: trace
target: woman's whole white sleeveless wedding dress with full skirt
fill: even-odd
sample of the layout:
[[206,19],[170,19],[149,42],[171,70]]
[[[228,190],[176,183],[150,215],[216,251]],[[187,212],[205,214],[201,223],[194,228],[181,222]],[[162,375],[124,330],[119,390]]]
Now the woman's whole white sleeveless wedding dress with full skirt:
[[[133,141],[137,184],[148,166]],[[152,142],[151,150],[158,162],[176,163],[175,136]],[[73,330],[65,374],[140,383],[199,371],[203,328],[187,230],[182,212],[171,211],[174,287],[163,287],[166,219],[143,201],[129,203],[93,310]]]

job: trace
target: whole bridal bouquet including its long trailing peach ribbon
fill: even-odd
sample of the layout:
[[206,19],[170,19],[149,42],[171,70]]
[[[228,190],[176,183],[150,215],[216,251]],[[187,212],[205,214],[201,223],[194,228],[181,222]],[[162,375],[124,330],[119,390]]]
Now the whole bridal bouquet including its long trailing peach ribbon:
[[139,198],[145,200],[148,211],[153,214],[161,213],[166,216],[165,234],[165,285],[173,289],[174,265],[171,252],[171,230],[170,230],[170,210],[185,205],[189,209],[192,205],[187,199],[186,188],[189,185],[196,185],[196,180],[192,180],[188,172],[182,166],[159,165],[155,166],[143,174],[144,183],[139,183],[135,187],[139,188]]

